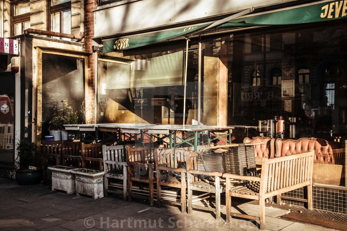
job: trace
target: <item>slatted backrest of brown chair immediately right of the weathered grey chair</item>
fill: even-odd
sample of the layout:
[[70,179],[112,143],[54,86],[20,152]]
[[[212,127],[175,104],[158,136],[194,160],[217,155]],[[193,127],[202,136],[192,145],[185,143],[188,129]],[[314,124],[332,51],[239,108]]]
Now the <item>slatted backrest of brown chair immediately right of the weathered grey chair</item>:
[[154,158],[155,148],[150,146],[143,147],[126,147],[126,156],[127,163],[129,162],[138,162],[138,163],[151,163],[155,164]]

